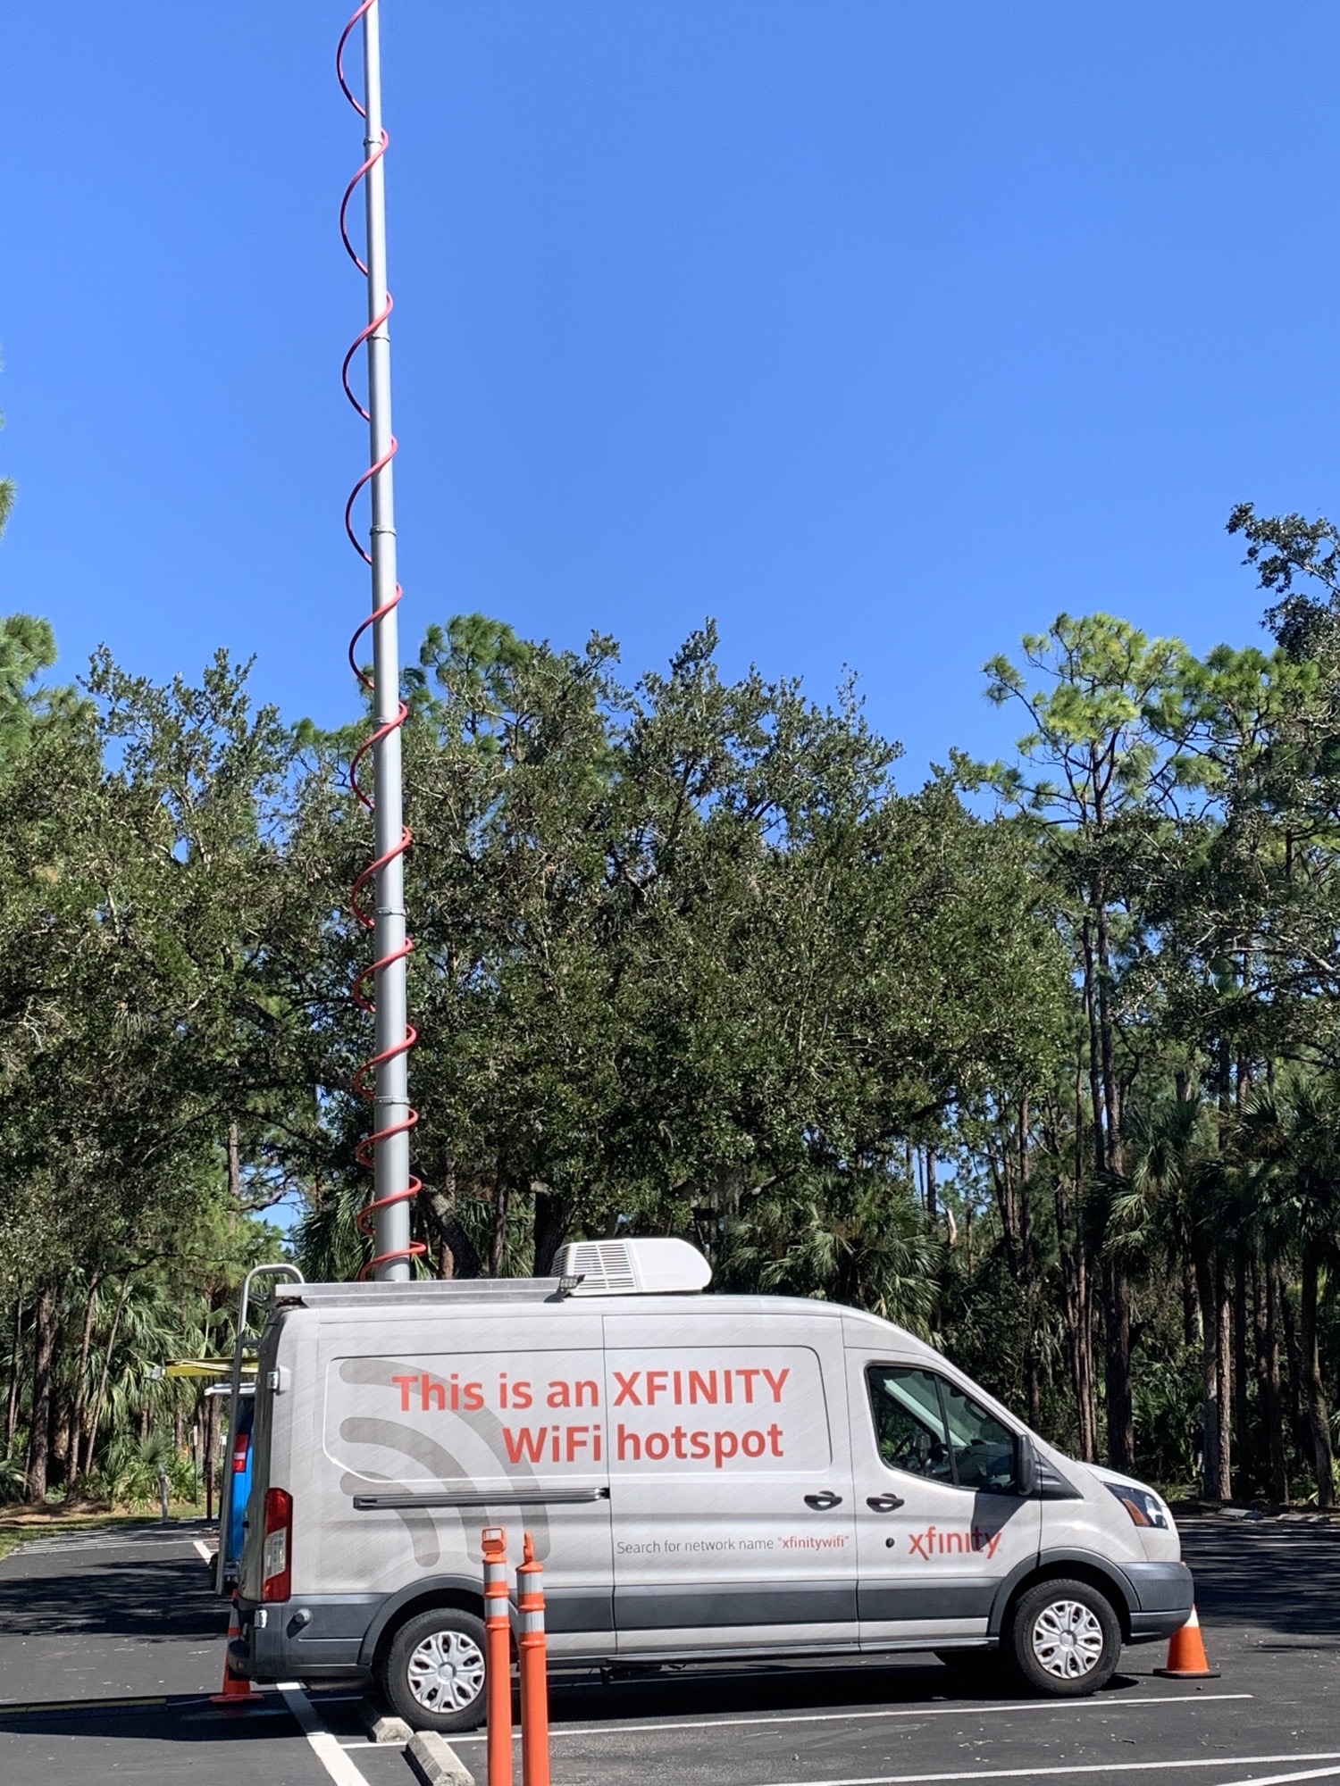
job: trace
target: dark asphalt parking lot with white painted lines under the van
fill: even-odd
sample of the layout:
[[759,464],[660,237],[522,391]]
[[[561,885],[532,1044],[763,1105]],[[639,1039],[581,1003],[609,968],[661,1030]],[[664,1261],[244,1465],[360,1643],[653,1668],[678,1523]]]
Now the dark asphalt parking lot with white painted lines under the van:
[[[141,1527],[41,1540],[0,1563],[0,1782],[407,1786],[354,1695],[211,1706],[227,1611],[204,1534]],[[997,1697],[929,1657],[681,1670],[556,1682],[554,1786],[1086,1786],[1340,1781],[1340,1529],[1213,1518],[1185,1527],[1220,1679],[1160,1681],[1127,1650],[1092,1700]],[[457,1738],[482,1782],[481,1738]],[[520,1770],[518,1770],[520,1772]]]

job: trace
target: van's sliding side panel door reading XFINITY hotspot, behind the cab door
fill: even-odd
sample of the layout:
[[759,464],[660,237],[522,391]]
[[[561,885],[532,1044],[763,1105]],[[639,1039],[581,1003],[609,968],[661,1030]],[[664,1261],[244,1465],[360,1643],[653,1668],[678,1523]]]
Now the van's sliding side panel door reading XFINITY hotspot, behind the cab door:
[[620,1654],[856,1647],[840,1316],[606,1316]]

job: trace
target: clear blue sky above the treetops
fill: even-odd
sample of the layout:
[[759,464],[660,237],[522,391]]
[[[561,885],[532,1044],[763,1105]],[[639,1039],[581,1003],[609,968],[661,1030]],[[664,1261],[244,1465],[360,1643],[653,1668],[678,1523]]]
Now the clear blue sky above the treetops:
[[[1340,509],[1340,9],[382,0],[406,643],[484,609],[843,664],[1004,748],[1059,609],[1260,639],[1229,507]],[[11,13],[0,605],[352,711],[341,5]]]

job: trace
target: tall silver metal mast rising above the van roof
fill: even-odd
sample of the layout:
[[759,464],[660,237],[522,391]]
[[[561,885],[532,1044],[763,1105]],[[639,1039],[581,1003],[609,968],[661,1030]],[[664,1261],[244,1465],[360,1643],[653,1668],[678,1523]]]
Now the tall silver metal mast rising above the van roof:
[[[372,155],[382,139],[382,64],[377,0],[363,14],[363,84],[368,132],[364,152]],[[384,157],[368,168],[363,182],[368,204],[368,321],[386,309],[386,179]],[[372,627],[373,714],[377,727],[388,727],[373,752],[375,850],[389,861],[377,873],[377,923],[373,948],[388,964],[375,975],[377,1054],[397,1048],[406,1036],[406,895],[404,859],[397,848],[402,834],[400,789],[400,636],[395,611],[395,504],[391,477],[391,336],[382,321],[368,336],[368,432],[372,464],[381,470],[372,479],[372,605],[381,614]],[[382,463],[384,461],[384,463]],[[382,1061],[375,1077],[375,1129],[397,1129],[409,1120],[409,1070],[404,1052]],[[373,1148],[373,1186],[381,1202],[409,1189],[409,1134],[397,1132]],[[409,1277],[409,1198],[377,1209],[373,1248],[381,1257],[402,1257],[379,1264],[379,1279]]]

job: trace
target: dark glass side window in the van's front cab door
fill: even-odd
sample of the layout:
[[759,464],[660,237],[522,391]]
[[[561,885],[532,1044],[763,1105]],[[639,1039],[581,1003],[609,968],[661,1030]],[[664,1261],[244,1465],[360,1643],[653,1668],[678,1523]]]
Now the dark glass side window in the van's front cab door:
[[997,1493],[1015,1486],[1013,1432],[963,1390],[906,1365],[872,1365],[865,1381],[890,1470]]

